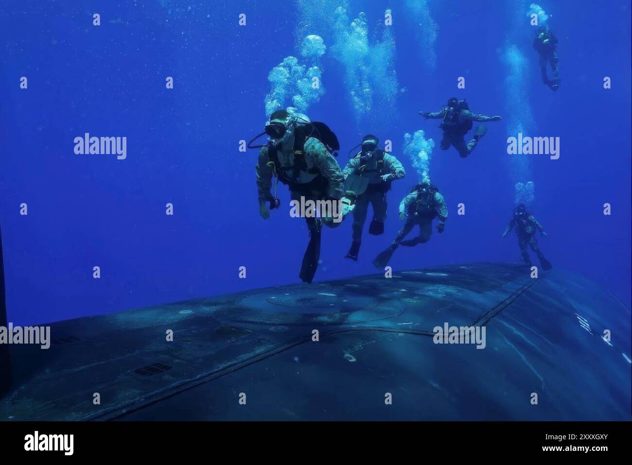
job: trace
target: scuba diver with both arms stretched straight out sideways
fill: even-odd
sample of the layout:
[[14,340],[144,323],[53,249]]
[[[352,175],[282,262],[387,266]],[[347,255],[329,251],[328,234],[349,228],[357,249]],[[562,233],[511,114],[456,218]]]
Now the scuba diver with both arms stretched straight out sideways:
[[484,114],[475,114],[470,111],[468,102],[465,99],[459,100],[451,97],[447,100],[447,106],[441,111],[429,113],[420,111],[419,114],[423,118],[443,119],[440,128],[443,129],[443,138],[441,139],[441,150],[447,150],[452,145],[465,158],[470,155],[471,151],[476,147],[478,140],[487,132],[487,126],[479,124],[474,131],[474,138],[466,143],[463,136],[472,128],[472,121],[501,121],[500,116],[485,116]]

